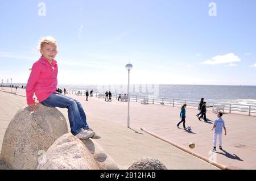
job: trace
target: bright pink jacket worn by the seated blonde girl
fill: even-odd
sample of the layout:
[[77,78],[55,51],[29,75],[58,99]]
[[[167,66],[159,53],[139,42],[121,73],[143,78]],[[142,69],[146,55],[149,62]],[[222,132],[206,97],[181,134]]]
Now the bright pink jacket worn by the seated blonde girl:
[[26,94],[27,104],[35,103],[34,93],[39,102],[46,100],[57,89],[58,66],[55,60],[52,65],[44,57],[39,58],[32,66],[30,78],[28,78]]

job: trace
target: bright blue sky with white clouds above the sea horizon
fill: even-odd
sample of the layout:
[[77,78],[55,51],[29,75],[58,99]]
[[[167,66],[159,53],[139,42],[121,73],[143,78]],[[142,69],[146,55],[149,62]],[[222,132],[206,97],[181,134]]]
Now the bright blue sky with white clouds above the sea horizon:
[[59,83],[126,83],[130,61],[131,83],[256,85],[255,19],[255,0],[0,0],[0,79],[27,82],[53,36]]

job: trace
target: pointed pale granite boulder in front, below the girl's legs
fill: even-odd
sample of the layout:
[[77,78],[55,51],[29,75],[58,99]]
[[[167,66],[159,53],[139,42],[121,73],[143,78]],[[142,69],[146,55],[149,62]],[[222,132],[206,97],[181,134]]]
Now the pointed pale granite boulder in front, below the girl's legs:
[[98,170],[96,161],[79,138],[64,134],[47,150],[38,170]]

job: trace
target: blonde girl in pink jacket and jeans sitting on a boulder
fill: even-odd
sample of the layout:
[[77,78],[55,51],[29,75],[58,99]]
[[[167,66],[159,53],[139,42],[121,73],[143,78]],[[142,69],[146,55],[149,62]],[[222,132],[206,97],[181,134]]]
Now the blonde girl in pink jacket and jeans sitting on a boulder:
[[53,59],[57,54],[56,40],[53,37],[44,37],[40,41],[40,53],[42,57],[33,64],[27,82],[26,95],[30,110],[38,109],[39,103],[33,99],[35,93],[39,102],[44,106],[68,108],[71,133],[77,138],[100,138],[89,128],[81,103],[56,92],[58,66]]

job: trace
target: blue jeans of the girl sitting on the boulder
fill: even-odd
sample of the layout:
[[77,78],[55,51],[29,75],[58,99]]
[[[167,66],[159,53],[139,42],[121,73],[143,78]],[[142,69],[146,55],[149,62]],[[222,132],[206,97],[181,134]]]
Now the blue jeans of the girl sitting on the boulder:
[[52,93],[41,104],[47,107],[68,108],[68,120],[73,135],[78,134],[82,128],[89,129],[82,104],[78,100],[59,93]]

